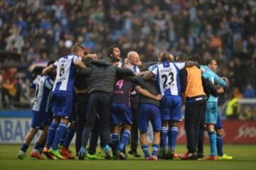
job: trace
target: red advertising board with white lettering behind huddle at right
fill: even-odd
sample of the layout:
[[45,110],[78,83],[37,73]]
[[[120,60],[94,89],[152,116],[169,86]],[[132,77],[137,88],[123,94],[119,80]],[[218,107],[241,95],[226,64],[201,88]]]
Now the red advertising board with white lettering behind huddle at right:
[[[184,123],[179,123],[178,143],[186,144]],[[224,142],[228,144],[256,144],[256,121],[223,120],[225,130]],[[205,142],[208,143],[208,134],[205,133]]]

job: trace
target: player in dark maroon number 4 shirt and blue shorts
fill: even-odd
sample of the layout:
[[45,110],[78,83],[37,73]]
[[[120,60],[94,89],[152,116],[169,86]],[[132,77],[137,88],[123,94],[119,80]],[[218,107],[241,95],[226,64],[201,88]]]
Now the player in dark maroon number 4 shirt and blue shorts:
[[[113,156],[125,159],[122,152],[131,135],[132,110],[130,107],[130,94],[135,88],[132,81],[119,79],[114,86],[114,94],[110,103],[110,125],[112,125]],[[124,132],[119,144],[120,124],[124,125]]]

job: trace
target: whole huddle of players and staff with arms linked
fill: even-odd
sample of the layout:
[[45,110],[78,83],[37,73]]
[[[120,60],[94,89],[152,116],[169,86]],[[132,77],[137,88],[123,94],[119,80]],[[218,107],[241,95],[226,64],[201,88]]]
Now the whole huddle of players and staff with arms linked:
[[[233,159],[223,154],[217,105],[228,79],[218,77],[215,60],[204,63],[198,55],[160,52],[159,62],[142,63],[131,51],[122,63],[117,45],[109,47],[102,60],[81,45],[71,51],[46,68],[33,70],[33,118],[19,159],[26,158],[38,130],[42,132],[30,154],[37,159],[75,159],[68,149],[74,135],[78,159],[127,159],[130,140],[129,154],[140,157],[138,138],[146,160]],[[176,154],[183,103],[188,152]],[[149,121],[154,132],[151,153],[146,137]],[[206,158],[205,130],[210,144]],[[96,153],[99,137],[102,154]]]

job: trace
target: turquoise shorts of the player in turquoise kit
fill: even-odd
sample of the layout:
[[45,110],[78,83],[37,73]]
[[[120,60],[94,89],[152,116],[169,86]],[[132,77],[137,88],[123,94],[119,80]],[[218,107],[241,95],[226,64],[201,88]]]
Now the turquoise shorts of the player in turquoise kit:
[[216,124],[218,115],[217,102],[206,102],[206,124]]

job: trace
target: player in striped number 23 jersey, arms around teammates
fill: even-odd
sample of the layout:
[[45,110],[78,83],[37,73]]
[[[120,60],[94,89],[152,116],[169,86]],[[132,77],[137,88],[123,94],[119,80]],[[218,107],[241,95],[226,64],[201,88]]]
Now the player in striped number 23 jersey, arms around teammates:
[[[181,121],[181,84],[179,72],[184,67],[191,67],[193,62],[173,62],[173,55],[162,52],[161,62],[153,67],[151,72],[145,74],[145,79],[156,76],[161,91],[161,142],[166,159],[174,158],[174,149],[178,135],[177,123]],[[169,127],[169,130],[168,130]],[[169,132],[168,132],[169,131]],[[169,134],[168,134],[169,133]],[[169,137],[169,149],[167,149],[166,138]]]

